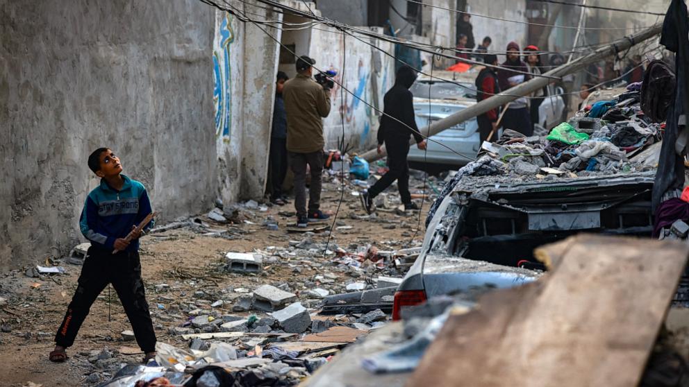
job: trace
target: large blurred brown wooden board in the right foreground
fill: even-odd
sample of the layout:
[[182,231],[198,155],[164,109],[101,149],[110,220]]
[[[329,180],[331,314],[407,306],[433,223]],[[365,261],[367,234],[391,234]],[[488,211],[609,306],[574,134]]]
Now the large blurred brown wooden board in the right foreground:
[[636,386],[689,246],[573,238],[537,282],[450,316],[407,386]]

